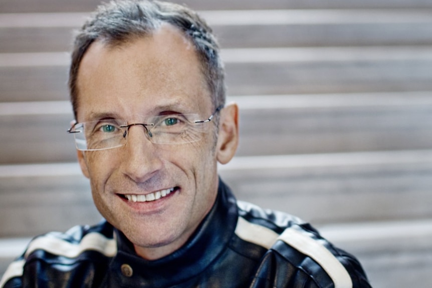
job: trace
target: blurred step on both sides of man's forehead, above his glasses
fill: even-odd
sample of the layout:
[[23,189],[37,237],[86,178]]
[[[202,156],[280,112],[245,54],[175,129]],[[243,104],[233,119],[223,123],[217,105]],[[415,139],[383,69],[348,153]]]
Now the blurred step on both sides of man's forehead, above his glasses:
[[[432,47],[227,49],[231,95],[432,90]],[[65,53],[0,54],[2,101],[66,100]]]

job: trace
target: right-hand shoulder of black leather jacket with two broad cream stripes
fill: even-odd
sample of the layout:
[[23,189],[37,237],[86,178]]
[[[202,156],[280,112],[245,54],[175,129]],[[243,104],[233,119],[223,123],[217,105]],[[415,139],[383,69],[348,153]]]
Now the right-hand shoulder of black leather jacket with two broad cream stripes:
[[304,287],[370,287],[358,260],[334,247],[309,223],[241,201],[238,207],[236,235],[267,249],[257,280],[263,277],[277,287],[291,286],[293,281]]

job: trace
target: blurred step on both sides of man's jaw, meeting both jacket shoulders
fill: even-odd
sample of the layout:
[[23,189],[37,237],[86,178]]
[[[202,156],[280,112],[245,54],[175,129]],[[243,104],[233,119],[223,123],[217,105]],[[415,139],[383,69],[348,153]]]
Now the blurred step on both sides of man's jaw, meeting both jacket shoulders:
[[[0,237],[99,221],[77,163],[0,166]],[[430,218],[432,150],[236,157],[236,196],[316,225]],[[67,211],[67,212],[66,212]]]

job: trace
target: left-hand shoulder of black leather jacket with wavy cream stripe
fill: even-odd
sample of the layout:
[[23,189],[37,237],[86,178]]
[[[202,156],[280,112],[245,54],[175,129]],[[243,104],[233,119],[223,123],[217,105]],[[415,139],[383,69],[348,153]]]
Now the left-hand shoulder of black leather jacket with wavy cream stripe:
[[75,226],[62,233],[46,233],[33,238],[24,253],[8,266],[0,288],[21,287],[25,277],[32,278],[50,269],[68,270],[90,257],[112,257],[116,252],[113,228],[106,221],[95,226]]

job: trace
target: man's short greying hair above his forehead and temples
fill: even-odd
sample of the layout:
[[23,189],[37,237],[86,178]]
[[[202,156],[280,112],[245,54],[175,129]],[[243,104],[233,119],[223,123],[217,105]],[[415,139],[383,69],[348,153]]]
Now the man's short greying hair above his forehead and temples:
[[155,32],[161,24],[178,28],[191,41],[206,80],[213,108],[225,104],[226,87],[220,48],[212,30],[192,10],[173,3],[116,0],[98,7],[78,32],[69,71],[69,92],[75,119],[78,109],[78,70],[84,54],[95,41],[116,46]]

